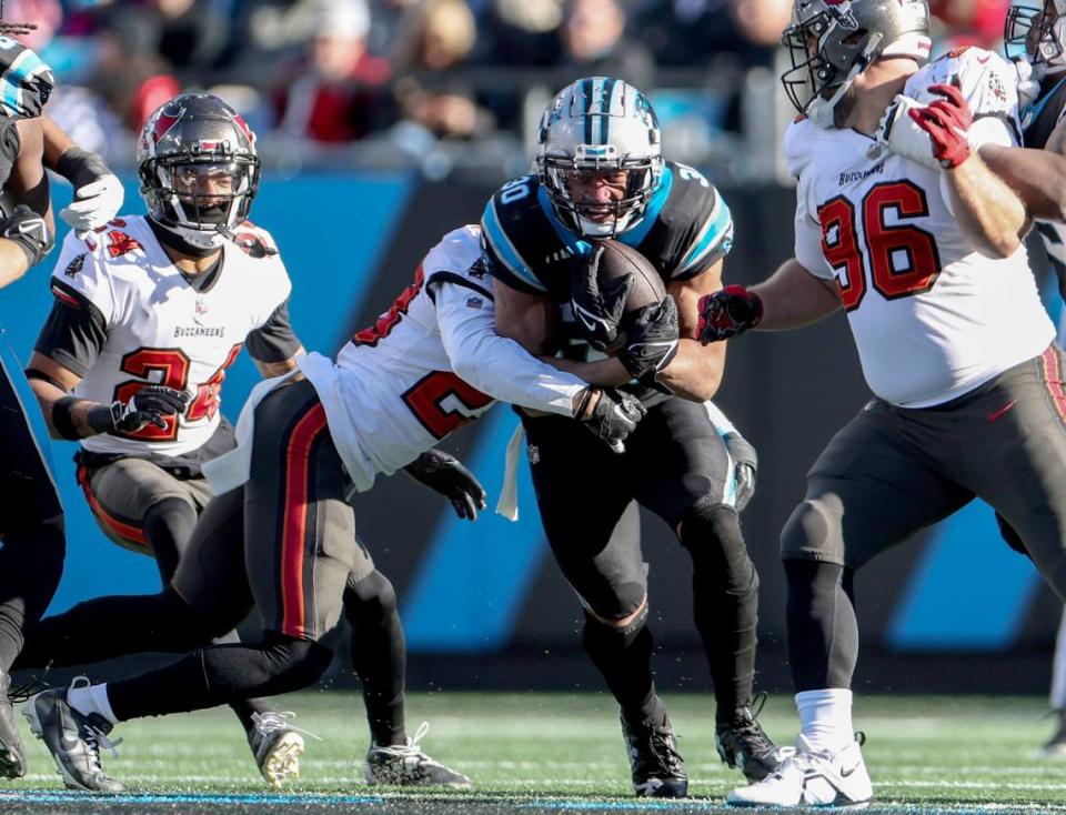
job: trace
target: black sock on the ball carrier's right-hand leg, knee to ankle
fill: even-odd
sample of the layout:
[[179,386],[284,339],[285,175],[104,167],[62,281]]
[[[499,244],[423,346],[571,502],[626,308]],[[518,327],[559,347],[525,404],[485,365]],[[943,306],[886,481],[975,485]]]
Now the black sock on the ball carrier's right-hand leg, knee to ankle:
[[715,721],[728,723],[752,704],[758,574],[732,507],[696,504],[682,521],[681,543],[692,555],[693,618],[711,665]]

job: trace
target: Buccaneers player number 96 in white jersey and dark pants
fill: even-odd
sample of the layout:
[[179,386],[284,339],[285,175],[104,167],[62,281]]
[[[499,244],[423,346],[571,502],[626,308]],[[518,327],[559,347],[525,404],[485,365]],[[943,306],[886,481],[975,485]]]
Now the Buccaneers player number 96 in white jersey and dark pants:
[[796,753],[728,801],[863,806],[855,571],[980,496],[1066,593],[1063,359],[1020,240],[1028,213],[983,159],[1018,144],[1015,68],[973,48],[923,67],[925,0],[796,0],[793,19],[795,258],[704,298],[701,340],[843,308],[875,395],[782,532]]

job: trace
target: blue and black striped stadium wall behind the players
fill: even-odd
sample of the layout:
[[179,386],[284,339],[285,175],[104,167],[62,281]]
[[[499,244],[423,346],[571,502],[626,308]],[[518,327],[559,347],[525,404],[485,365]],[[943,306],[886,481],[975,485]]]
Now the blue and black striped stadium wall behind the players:
[[[254,220],[282,250],[294,283],[293,322],[304,344],[332,353],[371,322],[441,234],[476,221],[493,187],[480,179],[430,184],[384,172],[268,177]],[[754,282],[791,253],[793,193],[726,192],[736,220],[726,276]],[[57,209],[69,194],[67,188],[56,190]],[[132,182],[127,203],[127,212],[142,211]],[[49,271],[46,263],[0,291],[0,320],[23,360],[50,305]],[[247,356],[231,369],[223,404],[231,417],[257,376]],[[760,451],[758,492],[744,530],[762,577],[762,682],[771,688],[787,687],[777,534],[803,495],[806,469],[866,399],[842,316],[731,345],[718,403]],[[497,405],[444,444],[472,466],[493,500],[515,421]],[[53,442],[69,555],[52,611],[100,594],[155,591],[152,562],[110,544],[97,529],[74,483],[73,452],[70,443]],[[395,584],[409,646],[420,655],[412,660],[412,685],[599,686],[576,655],[577,603],[551,561],[523,473],[517,523],[492,513],[476,524],[460,522],[443,501],[403,475],[381,479],[371,494],[356,499],[360,535]],[[691,626],[687,556],[650,515],[644,550],[663,652],[661,682],[705,687]],[[965,678],[968,690],[979,690],[976,676],[989,690],[1036,691],[1046,682],[1060,607],[1029,562],[999,541],[992,511],[980,502],[883,555],[858,576],[856,591],[861,686],[951,690]]]

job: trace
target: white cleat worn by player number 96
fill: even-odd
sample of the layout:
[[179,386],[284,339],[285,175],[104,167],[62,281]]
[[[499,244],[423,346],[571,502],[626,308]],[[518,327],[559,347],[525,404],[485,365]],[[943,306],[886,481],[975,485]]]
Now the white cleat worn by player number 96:
[[859,749],[865,736],[843,749],[797,751],[763,781],[734,789],[726,796],[731,806],[832,806],[862,809],[869,805],[874,788]]

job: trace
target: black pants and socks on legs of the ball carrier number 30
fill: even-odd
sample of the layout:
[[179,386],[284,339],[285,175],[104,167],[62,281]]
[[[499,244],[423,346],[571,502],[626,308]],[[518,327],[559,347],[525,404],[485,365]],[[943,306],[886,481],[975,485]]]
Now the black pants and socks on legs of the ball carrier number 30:
[[705,406],[677,398],[654,404],[622,454],[571,419],[522,421],[544,531],[585,607],[585,648],[623,715],[636,722],[660,708],[644,627],[640,504],[670,524],[692,557],[693,615],[716,715],[731,720],[752,698],[758,577],[732,506],[733,465]]

